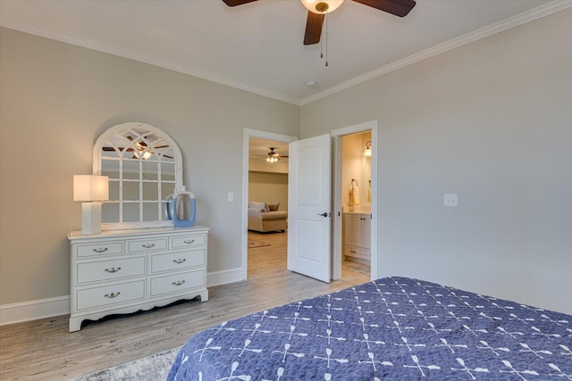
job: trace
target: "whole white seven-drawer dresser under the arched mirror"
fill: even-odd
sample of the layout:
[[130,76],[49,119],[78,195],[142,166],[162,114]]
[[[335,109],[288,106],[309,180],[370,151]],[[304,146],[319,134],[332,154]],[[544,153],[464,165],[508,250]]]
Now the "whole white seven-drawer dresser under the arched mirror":
[[70,332],[86,319],[130,313],[206,290],[208,228],[71,231]]

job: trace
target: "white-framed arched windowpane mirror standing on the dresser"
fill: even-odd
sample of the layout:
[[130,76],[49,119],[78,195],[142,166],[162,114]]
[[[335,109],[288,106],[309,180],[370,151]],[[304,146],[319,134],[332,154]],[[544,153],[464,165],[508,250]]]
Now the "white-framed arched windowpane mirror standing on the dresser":
[[172,226],[165,198],[182,188],[181,150],[171,137],[146,123],[127,122],[97,138],[93,173],[109,177],[102,229]]

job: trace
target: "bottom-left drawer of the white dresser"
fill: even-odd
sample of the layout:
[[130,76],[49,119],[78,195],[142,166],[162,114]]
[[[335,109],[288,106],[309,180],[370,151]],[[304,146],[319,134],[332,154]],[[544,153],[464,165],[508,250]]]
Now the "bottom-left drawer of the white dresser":
[[145,299],[145,280],[78,290],[78,310]]

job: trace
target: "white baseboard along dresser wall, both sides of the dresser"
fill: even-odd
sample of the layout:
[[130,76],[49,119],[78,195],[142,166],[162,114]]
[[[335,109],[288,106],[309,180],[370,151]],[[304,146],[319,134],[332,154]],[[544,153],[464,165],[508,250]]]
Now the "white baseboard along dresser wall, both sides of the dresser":
[[[206,274],[206,286],[219,286],[239,282],[242,269],[214,271]],[[0,326],[23,321],[52,318],[70,313],[70,295],[37,301],[17,302],[0,305]]]

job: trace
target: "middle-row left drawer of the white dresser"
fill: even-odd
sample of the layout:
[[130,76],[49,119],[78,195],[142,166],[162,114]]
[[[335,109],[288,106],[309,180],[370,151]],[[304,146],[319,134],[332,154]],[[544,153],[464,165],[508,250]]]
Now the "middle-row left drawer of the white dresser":
[[145,275],[145,257],[77,263],[76,284]]

